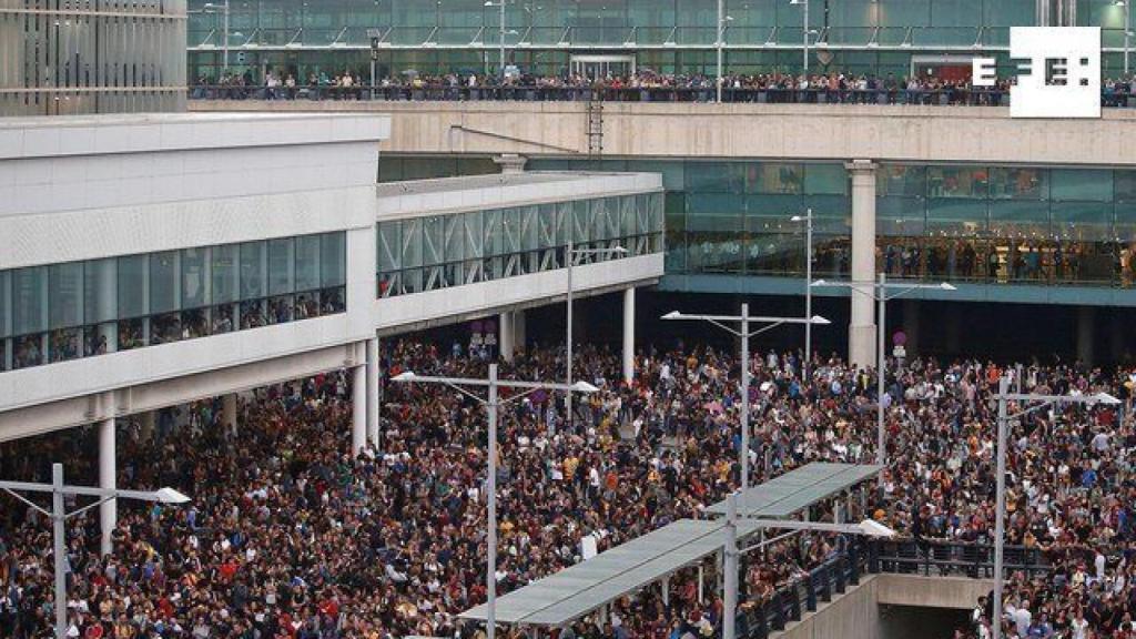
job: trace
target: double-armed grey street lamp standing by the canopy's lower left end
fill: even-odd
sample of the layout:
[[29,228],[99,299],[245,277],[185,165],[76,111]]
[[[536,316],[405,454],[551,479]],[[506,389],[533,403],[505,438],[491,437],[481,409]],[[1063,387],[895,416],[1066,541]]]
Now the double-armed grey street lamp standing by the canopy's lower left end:
[[[486,486],[486,492],[488,492],[488,509],[487,509],[487,533],[486,533],[486,546],[487,546],[487,562],[485,572],[485,591],[486,591],[486,637],[487,639],[494,639],[496,633],[496,412],[498,406],[502,404],[509,404],[510,401],[517,401],[520,398],[533,393],[537,390],[562,390],[571,395],[573,392],[596,392],[600,389],[587,382],[576,382],[574,384],[560,384],[560,383],[545,383],[545,382],[521,382],[521,381],[510,381],[510,380],[499,380],[496,376],[496,364],[490,364],[490,376],[487,380],[478,379],[467,379],[467,377],[433,377],[426,375],[416,375],[415,373],[407,371],[391,377],[393,382],[401,383],[418,383],[418,384],[443,384],[448,385],[461,395],[474,399],[482,406],[485,406],[488,412],[488,481]],[[469,392],[461,387],[484,387],[488,389],[488,399],[482,399],[479,396]],[[498,400],[498,389],[510,388],[510,389],[525,389],[525,392],[516,395],[506,399],[504,401]]]

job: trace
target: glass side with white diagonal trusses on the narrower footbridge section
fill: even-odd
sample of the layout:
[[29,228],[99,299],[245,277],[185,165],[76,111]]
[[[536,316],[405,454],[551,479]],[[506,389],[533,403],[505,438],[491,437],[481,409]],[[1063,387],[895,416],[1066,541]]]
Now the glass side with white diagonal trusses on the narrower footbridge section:
[[576,264],[662,251],[662,193],[551,202],[378,224],[381,298],[562,268],[577,249],[626,254],[577,256]]

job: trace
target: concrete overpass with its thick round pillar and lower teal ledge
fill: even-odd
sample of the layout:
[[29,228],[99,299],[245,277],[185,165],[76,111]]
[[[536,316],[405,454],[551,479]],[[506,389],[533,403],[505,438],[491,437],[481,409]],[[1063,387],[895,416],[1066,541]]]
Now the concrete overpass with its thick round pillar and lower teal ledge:
[[[888,232],[877,230],[877,175],[882,163],[1136,167],[1136,153],[1127,142],[1136,125],[1136,111],[1125,109],[1106,109],[1099,121],[1025,121],[1011,119],[1004,107],[907,105],[605,102],[602,110],[596,110],[586,102],[231,100],[194,101],[191,108],[320,113],[383,109],[391,114],[394,125],[381,149],[392,155],[518,153],[534,160],[650,160],[658,163],[659,171],[666,171],[668,161],[687,158],[843,163],[851,184],[850,274],[857,281],[876,279],[878,242],[888,236]],[[593,127],[602,134],[590,135]],[[663,290],[679,292],[796,296],[800,287],[799,279],[760,273],[668,272],[662,281]],[[1077,316],[1077,351],[1086,360],[1092,360],[1092,340],[1080,335],[1093,333],[1092,307],[1136,306],[1136,290],[1116,283],[1006,285],[1004,279],[987,277],[967,281],[958,289],[950,294],[936,297],[927,292],[914,297],[1084,307]],[[847,294],[844,290],[818,292]],[[855,294],[850,296],[850,359],[860,366],[874,365],[877,330],[872,302],[867,296]]]

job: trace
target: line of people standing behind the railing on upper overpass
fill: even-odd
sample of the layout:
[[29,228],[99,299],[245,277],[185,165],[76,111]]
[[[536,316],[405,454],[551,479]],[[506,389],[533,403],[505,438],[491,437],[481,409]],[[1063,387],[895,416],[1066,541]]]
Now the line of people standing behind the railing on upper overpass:
[[[876,75],[853,70],[820,73],[730,74],[722,78],[726,102],[813,102],[883,105],[975,105],[1009,103],[1010,81],[994,86],[974,86],[964,80],[937,76]],[[1106,78],[1101,100],[1106,107],[1127,107],[1136,96],[1136,76]],[[298,77],[289,72],[268,70],[264,78],[251,72],[219,81],[198,77],[190,91],[193,99],[332,99],[332,100],[607,100],[630,102],[710,102],[717,99],[717,77],[703,74],[659,74],[650,70],[627,76],[495,75],[408,73],[377,78],[344,69],[342,73],[311,73]]]

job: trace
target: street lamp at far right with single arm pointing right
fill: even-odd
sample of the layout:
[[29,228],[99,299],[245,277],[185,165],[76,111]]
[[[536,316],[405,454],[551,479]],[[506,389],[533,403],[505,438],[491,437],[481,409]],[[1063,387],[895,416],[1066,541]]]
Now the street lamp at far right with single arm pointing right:
[[[1013,415],[1006,415],[1006,403],[1017,401],[1019,404],[1039,401],[1035,406],[1024,408]],[[1010,420],[1017,420],[1035,410],[1041,410],[1059,404],[1096,404],[1117,405],[1120,400],[1106,392],[1096,395],[1022,395],[1010,392],[1010,379],[1005,375],[999,380],[997,389],[997,480],[996,480],[996,505],[997,512],[994,515],[994,614],[991,625],[994,626],[994,639],[1002,637],[1002,590],[1004,579],[1002,574],[1002,549],[1005,545],[1005,449]]]

